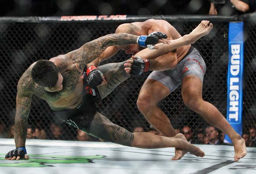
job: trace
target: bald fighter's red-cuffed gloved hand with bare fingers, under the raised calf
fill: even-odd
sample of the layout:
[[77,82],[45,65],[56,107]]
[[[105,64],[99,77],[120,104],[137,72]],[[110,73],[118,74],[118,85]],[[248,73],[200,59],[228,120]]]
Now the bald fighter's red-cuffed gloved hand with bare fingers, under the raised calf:
[[127,60],[125,64],[125,72],[130,73],[131,76],[139,76],[142,72],[150,69],[150,61],[148,59],[141,59],[138,56],[132,56],[132,60]]

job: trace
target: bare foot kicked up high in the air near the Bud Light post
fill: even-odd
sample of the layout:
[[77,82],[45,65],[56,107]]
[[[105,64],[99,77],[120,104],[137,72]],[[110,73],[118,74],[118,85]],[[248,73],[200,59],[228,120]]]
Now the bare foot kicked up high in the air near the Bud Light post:
[[188,34],[189,43],[195,43],[198,39],[209,34],[212,27],[213,25],[210,23],[210,21],[201,21],[201,23],[196,26],[196,28],[190,34]]

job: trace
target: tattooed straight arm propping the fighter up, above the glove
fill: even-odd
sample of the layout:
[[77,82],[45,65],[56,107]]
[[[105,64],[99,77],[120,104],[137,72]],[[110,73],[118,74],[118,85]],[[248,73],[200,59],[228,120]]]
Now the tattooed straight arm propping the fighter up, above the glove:
[[25,147],[27,137],[27,117],[29,115],[32,89],[34,83],[26,71],[19,79],[16,97],[16,115],[14,123],[14,140],[16,148]]

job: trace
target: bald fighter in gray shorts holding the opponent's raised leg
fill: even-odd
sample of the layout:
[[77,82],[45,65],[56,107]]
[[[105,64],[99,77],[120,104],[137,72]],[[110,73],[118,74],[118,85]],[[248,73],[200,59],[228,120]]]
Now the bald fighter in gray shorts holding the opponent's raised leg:
[[[201,27],[208,27],[208,25],[212,24],[209,21],[202,21],[200,25]],[[181,38],[179,32],[167,21],[155,19],[149,19],[144,22],[125,23],[119,25],[115,32],[137,34],[140,36],[154,31],[166,33],[171,40]],[[143,49],[139,45],[134,44],[117,45],[108,47],[91,64],[98,65],[100,61],[115,55],[119,49],[124,50],[127,54],[135,54],[135,59],[128,60],[124,64],[127,73],[137,76],[142,71],[154,70],[141,88],[137,106],[148,122],[159,132],[169,137],[176,135],[167,115],[157,105],[158,102],[181,85],[181,94],[186,106],[200,114],[208,123],[225,132],[231,138],[235,149],[235,161],[246,155],[244,139],[235,132],[215,106],[202,99],[202,84],[206,65],[202,56],[194,47],[190,44],[181,45],[176,50],[170,50],[171,52],[167,54],[162,52],[162,55],[156,58],[156,55],[152,53],[156,50],[148,51],[148,49]],[[141,49],[143,50],[140,51]],[[157,52],[159,53],[159,51]],[[145,59],[136,60],[136,57]],[[175,157],[172,159],[180,159],[185,153],[187,152],[184,150],[175,149]]]

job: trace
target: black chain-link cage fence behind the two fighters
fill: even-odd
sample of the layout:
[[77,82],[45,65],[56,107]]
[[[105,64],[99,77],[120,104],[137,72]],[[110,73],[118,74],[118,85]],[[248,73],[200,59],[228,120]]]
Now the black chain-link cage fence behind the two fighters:
[[[200,19],[198,19],[200,21]],[[181,35],[188,34],[199,22],[171,22]],[[114,33],[120,22],[112,23],[0,23],[0,108],[1,121],[10,131],[14,124],[15,96],[17,82],[23,72],[39,59],[50,59],[60,54],[77,49],[85,42],[100,36]],[[196,42],[193,46],[201,53],[206,62],[207,70],[203,85],[203,98],[211,102],[226,115],[227,99],[227,64],[228,64],[228,22],[214,22],[212,32]],[[255,115],[255,25],[248,25],[248,39],[245,44],[244,64],[244,132],[256,122]],[[129,58],[123,51],[119,51],[112,59],[102,62],[124,61]],[[104,98],[99,112],[108,117],[115,124],[133,131],[134,127],[144,127],[149,130],[150,125],[144,119],[136,106],[139,90],[149,73],[139,77],[129,78],[115,91]],[[196,134],[206,126],[206,121],[200,115],[192,112],[183,104],[181,88],[167,96],[159,107],[167,114],[173,127],[181,129],[188,125]],[[33,97],[29,125],[46,131],[49,139],[56,139],[52,135],[54,114],[48,104]],[[56,126],[55,126],[56,127]],[[62,139],[75,140],[77,132],[74,128],[60,125]]]

